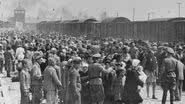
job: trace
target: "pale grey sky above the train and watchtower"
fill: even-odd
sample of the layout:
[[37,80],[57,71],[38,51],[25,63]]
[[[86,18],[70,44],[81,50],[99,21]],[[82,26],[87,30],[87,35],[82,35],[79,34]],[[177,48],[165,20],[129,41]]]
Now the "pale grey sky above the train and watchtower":
[[[13,16],[13,10],[20,2],[26,9],[26,17],[63,20],[74,18],[101,19],[107,17],[126,17],[133,20],[178,16],[178,2],[181,2],[181,16],[185,17],[185,0],[0,0],[0,19]],[[106,15],[103,13],[106,13]]]

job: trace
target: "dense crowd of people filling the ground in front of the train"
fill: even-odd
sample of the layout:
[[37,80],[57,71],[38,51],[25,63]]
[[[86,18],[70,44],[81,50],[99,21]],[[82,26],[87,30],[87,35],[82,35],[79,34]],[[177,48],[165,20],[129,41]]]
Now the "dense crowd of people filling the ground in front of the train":
[[146,84],[170,102],[180,101],[185,71],[183,44],[88,39],[60,33],[3,33],[0,73],[18,72],[21,104],[140,104]]

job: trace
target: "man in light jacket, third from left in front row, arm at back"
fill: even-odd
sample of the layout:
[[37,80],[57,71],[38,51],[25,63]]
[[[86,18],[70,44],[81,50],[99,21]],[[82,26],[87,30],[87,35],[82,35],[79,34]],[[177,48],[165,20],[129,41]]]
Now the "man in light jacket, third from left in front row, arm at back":
[[44,70],[43,87],[46,91],[47,104],[57,104],[58,88],[62,86],[54,68],[56,61],[53,57],[48,59],[48,66]]

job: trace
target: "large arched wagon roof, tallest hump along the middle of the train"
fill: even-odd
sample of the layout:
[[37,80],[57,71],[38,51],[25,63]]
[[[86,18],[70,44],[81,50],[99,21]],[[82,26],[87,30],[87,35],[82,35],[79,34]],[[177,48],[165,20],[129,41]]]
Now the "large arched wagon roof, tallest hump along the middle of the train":
[[101,23],[120,23],[120,22],[123,23],[123,22],[131,22],[131,21],[125,17],[109,17],[101,21]]

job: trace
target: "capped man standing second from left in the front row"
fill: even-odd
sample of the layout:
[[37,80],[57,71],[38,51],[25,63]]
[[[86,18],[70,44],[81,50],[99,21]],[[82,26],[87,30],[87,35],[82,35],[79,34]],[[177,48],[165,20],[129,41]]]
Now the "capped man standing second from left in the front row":
[[31,70],[32,103],[40,104],[42,98],[42,74],[40,64],[42,55],[36,51],[33,55],[33,68]]

